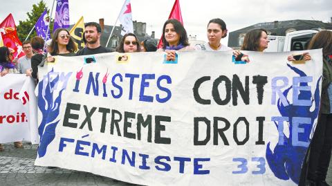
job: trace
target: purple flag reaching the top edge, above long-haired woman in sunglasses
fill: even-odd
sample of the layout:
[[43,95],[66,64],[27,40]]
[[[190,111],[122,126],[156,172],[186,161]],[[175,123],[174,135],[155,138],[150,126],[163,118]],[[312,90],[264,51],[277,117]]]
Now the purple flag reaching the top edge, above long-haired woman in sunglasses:
[[57,0],[53,32],[57,28],[69,28],[69,6],[68,0]]

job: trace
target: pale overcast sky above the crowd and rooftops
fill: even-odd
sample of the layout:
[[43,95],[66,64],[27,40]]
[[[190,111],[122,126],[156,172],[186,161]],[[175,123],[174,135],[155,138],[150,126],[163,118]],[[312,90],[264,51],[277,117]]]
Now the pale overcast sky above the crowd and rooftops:
[[[1,1],[0,20],[10,12],[16,24],[26,20],[33,4],[40,0]],[[104,18],[104,23],[113,25],[124,0],[68,0],[71,24],[83,16],[84,21]],[[52,8],[53,0],[44,0]],[[156,31],[159,38],[174,0],[131,0],[133,20],[147,23],[147,33]],[[206,41],[206,26],[212,18],[225,21],[229,32],[261,22],[285,21],[293,19],[319,20],[330,22],[332,0],[180,0],[183,22],[188,35]],[[55,10],[53,10],[54,18]],[[118,22],[117,25],[120,25]],[[221,42],[227,45],[227,38]]]

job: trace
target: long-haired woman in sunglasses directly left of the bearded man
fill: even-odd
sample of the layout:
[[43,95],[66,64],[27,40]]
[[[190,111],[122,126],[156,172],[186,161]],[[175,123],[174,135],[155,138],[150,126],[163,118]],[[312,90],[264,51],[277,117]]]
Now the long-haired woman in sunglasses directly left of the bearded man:
[[50,42],[50,52],[47,54],[45,62],[55,62],[55,55],[61,56],[75,56],[77,46],[75,45],[68,30],[58,28],[53,33],[52,41]]

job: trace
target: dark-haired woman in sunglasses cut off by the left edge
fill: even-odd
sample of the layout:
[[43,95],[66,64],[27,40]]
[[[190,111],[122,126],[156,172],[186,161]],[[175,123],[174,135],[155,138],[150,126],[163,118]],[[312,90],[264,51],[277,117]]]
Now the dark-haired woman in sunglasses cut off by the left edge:
[[12,64],[13,51],[6,46],[0,47],[0,75],[6,75],[8,73],[17,73],[15,64]]

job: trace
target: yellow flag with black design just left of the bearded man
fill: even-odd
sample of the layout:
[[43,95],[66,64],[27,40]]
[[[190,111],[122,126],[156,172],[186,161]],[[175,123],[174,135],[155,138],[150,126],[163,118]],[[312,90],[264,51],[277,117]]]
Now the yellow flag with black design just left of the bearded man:
[[73,26],[73,28],[71,28],[71,31],[69,31],[69,34],[73,38],[73,41],[76,44],[78,50],[84,48],[85,46],[83,41],[83,33],[84,33],[84,20],[82,16]]

